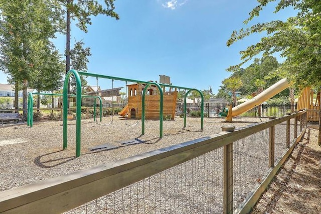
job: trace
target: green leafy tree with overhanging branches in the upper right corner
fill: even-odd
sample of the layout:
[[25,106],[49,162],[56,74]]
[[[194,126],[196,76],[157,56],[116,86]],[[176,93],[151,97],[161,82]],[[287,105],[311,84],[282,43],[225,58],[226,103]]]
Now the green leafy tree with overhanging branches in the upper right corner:
[[[275,0],[258,1],[248,20],[247,24],[254,17],[259,16],[260,11]],[[297,16],[288,18],[285,22],[280,20],[268,23],[253,25],[238,32],[233,31],[231,38],[227,41],[230,46],[238,40],[242,40],[252,33],[266,32],[260,42],[241,51],[243,62],[236,66],[231,66],[228,70],[235,71],[246,61],[252,59],[257,54],[263,53],[268,56],[280,52],[281,56],[286,57],[282,68],[287,70],[289,80],[295,82],[297,86],[312,85],[320,89],[321,86],[321,4],[315,0],[287,0],[278,1],[275,12],[280,12],[286,7],[293,7],[298,11]],[[321,108],[319,118],[318,143],[321,145]]]

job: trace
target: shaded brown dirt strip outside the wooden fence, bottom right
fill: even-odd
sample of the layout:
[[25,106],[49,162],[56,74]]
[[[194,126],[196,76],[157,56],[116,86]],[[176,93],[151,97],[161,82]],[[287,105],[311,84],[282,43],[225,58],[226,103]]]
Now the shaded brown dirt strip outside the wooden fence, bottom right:
[[250,213],[321,213],[321,147],[307,129]]

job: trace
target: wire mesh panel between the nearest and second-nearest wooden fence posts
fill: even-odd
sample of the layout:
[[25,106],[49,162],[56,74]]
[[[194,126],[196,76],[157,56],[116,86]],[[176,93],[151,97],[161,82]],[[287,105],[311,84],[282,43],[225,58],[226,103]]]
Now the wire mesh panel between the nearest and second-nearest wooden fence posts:
[[269,129],[234,142],[234,211],[244,204],[268,173]]

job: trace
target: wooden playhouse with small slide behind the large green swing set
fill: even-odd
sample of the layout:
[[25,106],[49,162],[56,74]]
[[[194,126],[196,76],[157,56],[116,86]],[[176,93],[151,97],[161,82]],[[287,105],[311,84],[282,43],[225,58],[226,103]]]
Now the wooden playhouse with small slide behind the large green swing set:
[[[149,81],[152,82],[152,81]],[[142,112],[142,92],[146,84],[131,84],[128,87],[128,103],[118,114],[127,116],[128,118],[141,119]],[[174,120],[177,90],[165,91],[163,88],[163,115],[166,120]],[[156,120],[159,119],[159,99],[160,95],[158,89],[154,85],[150,85],[145,95],[145,119]]]

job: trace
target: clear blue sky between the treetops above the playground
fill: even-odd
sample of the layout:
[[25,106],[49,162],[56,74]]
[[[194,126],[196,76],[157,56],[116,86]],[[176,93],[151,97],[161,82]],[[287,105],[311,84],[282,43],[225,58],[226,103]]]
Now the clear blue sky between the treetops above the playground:
[[[226,47],[233,30],[246,28],[243,21],[256,5],[255,0],[116,0],[120,20],[93,17],[87,34],[73,25],[71,47],[83,40],[91,48],[90,73],[143,81],[167,75],[173,85],[200,90],[211,86],[216,94],[230,76],[225,69],[241,62],[239,52],[264,36],[252,35]],[[248,26],[295,15],[292,9],[273,14],[274,6]],[[54,44],[64,53],[65,36],[58,35]],[[6,83],[6,77],[0,72],[0,83]],[[87,81],[96,85],[95,78]],[[111,80],[99,79],[99,85],[111,88]],[[114,87],[121,86],[125,83],[114,82]]]

